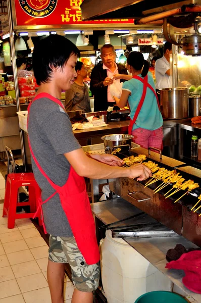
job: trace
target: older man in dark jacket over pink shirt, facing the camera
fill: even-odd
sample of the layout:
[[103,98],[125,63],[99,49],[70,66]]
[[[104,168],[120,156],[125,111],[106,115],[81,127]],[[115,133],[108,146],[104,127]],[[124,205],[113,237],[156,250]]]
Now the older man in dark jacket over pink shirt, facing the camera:
[[[94,112],[107,111],[115,102],[110,94],[110,85],[113,84],[115,74],[127,75],[126,68],[115,62],[116,52],[111,44],[100,48],[100,57],[103,63],[96,65],[91,72],[90,90],[94,95]],[[124,80],[121,80],[124,81]]]

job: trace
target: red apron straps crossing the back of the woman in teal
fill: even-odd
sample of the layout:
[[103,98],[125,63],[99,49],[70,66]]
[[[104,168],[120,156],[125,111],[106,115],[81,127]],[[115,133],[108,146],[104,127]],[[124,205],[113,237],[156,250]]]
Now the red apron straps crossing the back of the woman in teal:
[[148,83],[148,76],[146,75],[144,78],[141,78],[141,77],[139,77],[139,76],[133,76],[133,78],[134,78],[134,79],[137,79],[137,80],[139,80],[139,81],[141,81],[141,82],[143,83],[143,91],[142,91],[142,96],[141,96],[140,102],[139,102],[139,104],[138,104],[138,106],[137,106],[135,115],[134,115],[134,117],[133,117],[133,120],[130,119],[130,125],[129,125],[129,127],[128,127],[128,134],[129,134],[129,135],[131,135],[131,133],[132,133],[133,125],[134,125],[134,123],[136,122],[137,117],[138,117],[138,115],[139,115],[139,112],[140,112],[140,110],[141,110],[141,108],[142,108],[142,105],[143,105],[143,103],[144,103],[144,99],[145,99],[145,96],[146,96],[146,89],[147,89],[147,87],[150,88],[150,90],[152,90],[152,91],[154,92],[154,94],[155,94],[155,96],[156,96],[156,98],[157,98],[157,103],[158,103],[158,107],[159,107],[159,110],[160,110],[160,104],[159,104],[159,99],[158,99],[157,93],[156,93],[155,89],[152,87],[152,85],[150,85],[150,84]]

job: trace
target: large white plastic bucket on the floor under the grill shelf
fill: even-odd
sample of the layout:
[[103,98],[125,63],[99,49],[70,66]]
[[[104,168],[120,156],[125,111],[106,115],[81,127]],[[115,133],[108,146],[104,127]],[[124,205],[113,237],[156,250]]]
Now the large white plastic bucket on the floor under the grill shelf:
[[110,230],[101,246],[102,282],[108,303],[133,303],[149,291],[172,291],[173,283]]

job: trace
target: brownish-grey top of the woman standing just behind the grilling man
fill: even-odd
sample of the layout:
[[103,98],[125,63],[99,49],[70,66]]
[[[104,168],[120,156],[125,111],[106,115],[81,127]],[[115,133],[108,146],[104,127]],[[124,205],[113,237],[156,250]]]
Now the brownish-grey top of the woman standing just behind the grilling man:
[[83,84],[84,86],[74,82],[66,91],[65,108],[67,112],[79,110],[84,110],[84,113],[91,112],[88,87],[85,83]]

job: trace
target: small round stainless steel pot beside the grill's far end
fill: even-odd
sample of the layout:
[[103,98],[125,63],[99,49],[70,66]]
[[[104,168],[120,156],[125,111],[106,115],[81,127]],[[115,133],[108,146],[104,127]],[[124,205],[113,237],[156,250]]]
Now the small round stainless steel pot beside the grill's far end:
[[120,147],[122,145],[128,145],[129,149],[131,147],[131,141],[133,136],[127,134],[114,134],[114,135],[106,135],[101,139],[104,141],[104,147],[106,154],[112,154],[112,151],[115,147]]

